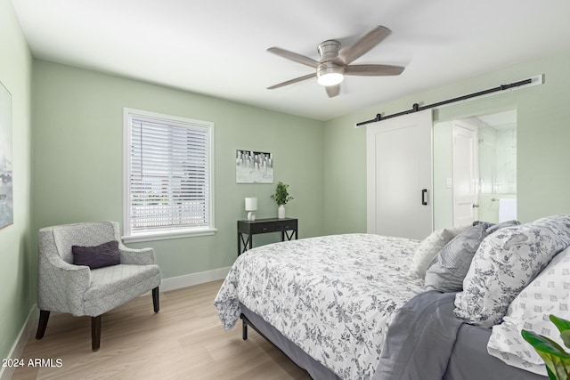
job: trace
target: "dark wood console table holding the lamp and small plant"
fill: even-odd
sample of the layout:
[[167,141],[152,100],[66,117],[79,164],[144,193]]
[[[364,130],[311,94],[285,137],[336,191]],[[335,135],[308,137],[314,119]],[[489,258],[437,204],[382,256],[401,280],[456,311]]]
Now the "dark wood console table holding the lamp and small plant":
[[[267,232],[281,232],[281,241],[298,239],[296,218],[271,218],[256,221],[238,221],[238,255],[253,247],[253,235]],[[244,235],[247,239],[244,239]],[[241,245],[243,244],[243,248]]]

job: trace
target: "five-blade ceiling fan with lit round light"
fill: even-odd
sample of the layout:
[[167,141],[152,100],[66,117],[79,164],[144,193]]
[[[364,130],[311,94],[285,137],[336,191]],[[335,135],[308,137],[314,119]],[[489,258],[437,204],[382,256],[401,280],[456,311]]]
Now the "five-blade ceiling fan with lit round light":
[[379,44],[384,38],[391,33],[390,29],[378,26],[362,36],[351,46],[340,48],[340,43],[336,40],[327,40],[317,46],[317,52],[321,56],[321,60],[315,61],[305,55],[292,53],[279,47],[270,47],[267,52],[277,54],[290,61],[296,61],[306,66],[310,66],[315,70],[313,74],[303,77],[289,79],[277,85],[267,87],[268,90],[282,87],[284,85],[292,85],[297,82],[317,78],[319,85],[325,86],[327,94],[330,98],[340,93],[340,83],[346,75],[349,76],[397,76],[403,72],[402,66],[392,65],[351,65],[363,54],[368,53],[374,46]]

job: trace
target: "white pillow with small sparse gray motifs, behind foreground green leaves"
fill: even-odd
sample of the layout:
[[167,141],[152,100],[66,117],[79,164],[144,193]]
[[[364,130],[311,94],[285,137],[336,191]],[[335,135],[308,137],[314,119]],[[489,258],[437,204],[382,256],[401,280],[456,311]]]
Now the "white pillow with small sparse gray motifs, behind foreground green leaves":
[[564,347],[550,314],[570,319],[570,248],[554,257],[510,303],[501,325],[493,326],[487,351],[510,366],[546,376],[544,361],[520,333],[530,330]]

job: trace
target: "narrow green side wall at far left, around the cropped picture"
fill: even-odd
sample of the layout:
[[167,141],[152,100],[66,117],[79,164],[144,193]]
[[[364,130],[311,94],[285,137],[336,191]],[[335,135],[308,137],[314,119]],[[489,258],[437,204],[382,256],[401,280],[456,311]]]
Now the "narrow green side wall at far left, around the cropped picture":
[[[7,358],[36,297],[30,249],[32,59],[12,2],[0,0],[0,82],[12,94],[14,222],[0,230],[0,358]],[[0,374],[4,368],[0,368]]]

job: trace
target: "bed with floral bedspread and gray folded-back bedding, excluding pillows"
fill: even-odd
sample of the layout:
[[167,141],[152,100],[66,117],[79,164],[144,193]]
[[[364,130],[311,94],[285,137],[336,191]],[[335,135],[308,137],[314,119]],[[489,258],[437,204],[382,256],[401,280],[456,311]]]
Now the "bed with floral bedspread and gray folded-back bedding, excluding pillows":
[[489,355],[493,330],[455,317],[457,292],[411,277],[422,243],[345,234],[256,247],[232,266],[216,311],[315,379],[545,379]]

